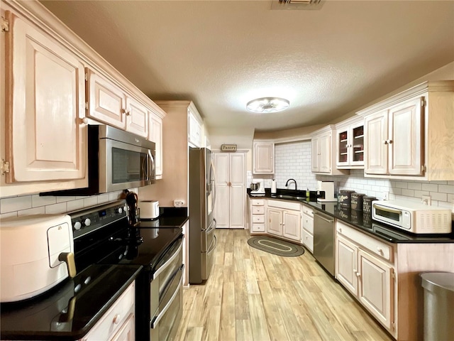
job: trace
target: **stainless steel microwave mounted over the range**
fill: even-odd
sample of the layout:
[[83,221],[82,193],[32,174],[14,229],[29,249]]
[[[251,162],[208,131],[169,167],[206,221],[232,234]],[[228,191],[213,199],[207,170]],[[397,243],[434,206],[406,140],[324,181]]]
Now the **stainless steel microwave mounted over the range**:
[[88,187],[40,195],[95,195],[150,185],[155,143],[106,125],[88,127]]

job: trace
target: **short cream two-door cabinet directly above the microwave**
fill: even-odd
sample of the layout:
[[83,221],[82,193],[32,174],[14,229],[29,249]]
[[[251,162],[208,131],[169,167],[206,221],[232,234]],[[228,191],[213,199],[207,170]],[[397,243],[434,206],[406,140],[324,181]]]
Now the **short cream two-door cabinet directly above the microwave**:
[[104,75],[87,67],[87,117],[148,137],[148,109]]

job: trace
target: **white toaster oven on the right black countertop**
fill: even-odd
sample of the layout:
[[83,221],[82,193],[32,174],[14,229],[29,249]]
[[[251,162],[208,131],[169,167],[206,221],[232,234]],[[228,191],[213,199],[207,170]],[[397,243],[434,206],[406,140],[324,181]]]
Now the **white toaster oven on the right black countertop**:
[[372,202],[372,219],[415,234],[450,233],[453,224],[449,209],[407,200]]

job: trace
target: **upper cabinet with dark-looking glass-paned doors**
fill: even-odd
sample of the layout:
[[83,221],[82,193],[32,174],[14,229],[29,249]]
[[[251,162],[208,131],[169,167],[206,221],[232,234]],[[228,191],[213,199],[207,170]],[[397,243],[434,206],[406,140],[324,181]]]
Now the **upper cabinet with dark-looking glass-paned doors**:
[[337,168],[364,168],[364,118],[336,124]]

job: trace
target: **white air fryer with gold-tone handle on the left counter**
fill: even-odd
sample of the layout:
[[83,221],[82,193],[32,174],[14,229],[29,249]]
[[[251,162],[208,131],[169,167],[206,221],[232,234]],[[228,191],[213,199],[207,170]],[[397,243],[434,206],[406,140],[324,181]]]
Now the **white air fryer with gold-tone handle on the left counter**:
[[28,215],[0,221],[0,301],[16,302],[76,275],[69,215]]

